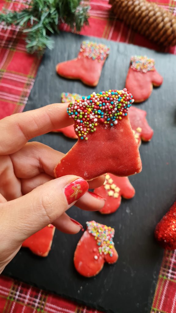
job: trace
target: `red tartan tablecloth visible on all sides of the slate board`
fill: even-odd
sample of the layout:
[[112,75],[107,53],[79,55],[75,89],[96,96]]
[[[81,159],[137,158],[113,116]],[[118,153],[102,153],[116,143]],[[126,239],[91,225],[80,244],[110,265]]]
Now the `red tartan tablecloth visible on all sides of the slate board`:
[[[150,0],[149,0],[150,1]],[[152,1],[151,1],[152,2]],[[175,0],[155,0],[163,8],[176,15]],[[2,7],[20,9],[30,0],[0,0]],[[102,37],[109,40],[138,44],[147,48],[160,48],[146,38],[132,31],[123,22],[114,19],[107,0],[90,1],[89,27],[82,29],[82,35]],[[61,30],[69,31],[66,25]],[[176,54],[176,47],[165,52]],[[26,53],[25,42],[19,28],[6,29],[0,25],[0,118],[21,112],[26,105],[34,84],[40,59]],[[48,294],[29,285],[0,277],[0,313],[99,313]],[[176,312],[176,250],[165,251],[151,313]]]

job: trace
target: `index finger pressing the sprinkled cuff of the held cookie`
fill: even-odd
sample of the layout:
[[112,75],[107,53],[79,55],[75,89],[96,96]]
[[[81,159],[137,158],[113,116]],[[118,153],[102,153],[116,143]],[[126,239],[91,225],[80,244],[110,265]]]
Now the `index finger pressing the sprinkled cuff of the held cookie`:
[[67,107],[68,103],[54,103],[2,119],[0,155],[18,151],[33,137],[73,124],[73,120],[67,114]]

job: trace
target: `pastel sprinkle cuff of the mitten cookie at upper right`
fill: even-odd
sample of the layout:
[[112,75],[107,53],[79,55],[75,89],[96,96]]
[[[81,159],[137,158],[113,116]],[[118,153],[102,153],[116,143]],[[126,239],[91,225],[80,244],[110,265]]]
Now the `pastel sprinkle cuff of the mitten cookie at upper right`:
[[154,71],[155,60],[149,59],[144,56],[134,55],[131,57],[131,68],[138,72],[147,73],[148,71]]

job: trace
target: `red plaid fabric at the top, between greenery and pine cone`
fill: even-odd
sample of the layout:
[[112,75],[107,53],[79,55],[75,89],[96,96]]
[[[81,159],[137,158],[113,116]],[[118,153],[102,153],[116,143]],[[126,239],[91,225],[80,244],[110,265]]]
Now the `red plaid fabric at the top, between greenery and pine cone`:
[[[148,0],[148,2],[155,2],[176,15],[176,0]],[[81,35],[96,36],[118,42],[137,44],[139,46],[161,51],[161,47],[157,44],[152,43],[147,38],[134,32],[124,22],[114,18],[108,0],[91,0],[90,5],[91,16],[89,18],[89,26],[82,28],[80,32]],[[65,24],[61,26],[61,29],[69,31],[69,27]],[[176,54],[176,46],[166,49],[163,48],[162,51]]]

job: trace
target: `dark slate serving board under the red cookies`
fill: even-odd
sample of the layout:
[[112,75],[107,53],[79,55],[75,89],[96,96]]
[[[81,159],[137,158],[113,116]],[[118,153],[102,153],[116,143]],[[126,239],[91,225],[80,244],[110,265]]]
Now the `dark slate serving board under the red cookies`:
[[[68,212],[84,226],[87,220],[94,219],[114,227],[119,260],[116,265],[105,264],[95,278],[83,278],[73,265],[74,250],[82,232],[67,235],[56,230],[48,258],[42,259],[27,249],[21,249],[3,274],[106,312],[150,312],[163,255],[163,250],[153,238],[153,231],[176,198],[176,57],[96,38],[97,42],[110,46],[110,55],[98,86],[92,88],[80,81],[63,79],[55,72],[58,62],[77,56],[84,39],[87,37],[70,33],[54,36],[55,47],[51,51],[47,49],[44,54],[25,110],[60,102],[63,91],[89,95],[92,91],[124,88],[133,54],[153,57],[156,68],[164,77],[163,85],[154,89],[145,103],[137,105],[147,111],[154,136],[150,143],[142,143],[140,147],[142,172],[130,177],[136,189],[135,197],[122,200],[118,211],[107,216],[76,207]],[[62,152],[67,152],[75,143],[55,133],[34,140]]]

